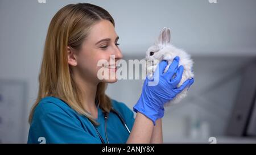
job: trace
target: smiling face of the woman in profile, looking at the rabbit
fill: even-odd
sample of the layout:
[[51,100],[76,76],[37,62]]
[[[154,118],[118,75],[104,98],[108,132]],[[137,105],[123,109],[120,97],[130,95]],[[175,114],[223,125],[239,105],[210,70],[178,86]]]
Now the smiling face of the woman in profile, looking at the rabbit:
[[117,60],[122,58],[117,41],[117,33],[109,20],[96,23],[76,54],[76,70],[80,76],[96,83],[116,82]]

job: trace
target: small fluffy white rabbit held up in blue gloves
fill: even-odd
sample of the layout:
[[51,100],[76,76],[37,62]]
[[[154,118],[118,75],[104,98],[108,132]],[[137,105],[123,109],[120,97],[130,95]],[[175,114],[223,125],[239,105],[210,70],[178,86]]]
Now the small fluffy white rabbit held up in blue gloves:
[[[180,83],[177,85],[177,87],[179,87],[182,85],[184,81],[194,77],[194,74],[192,72],[193,61],[191,60],[191,56],[188,55],[185,51],[174,47],[174,45],[171,45],[170,40],[171,40],[170,28],[164,27],[158,39],[156,39],[155,44],[147,49],[147,52],[146,52],[147,76],[148,78],[152,78],[155,72],[156,66],[162,60],[166,60],[168,62],[168,65],[164,70],[164,72],[166,72],[169,66],[171,65],[172,61],[174,60],[174,58],[176,56],[179,56],[180,57],[179,66],[183,65],[184,67],[183,76],[181,78]],[[187,89],[184,89],[183,91],[181,91],[181,93],[177,94],[174,99],[164,104],[164,106],[166,107],[166,106],[169,106],[170,104],[179,103],[180,100],[184,98],[186,95],[187,95]]]

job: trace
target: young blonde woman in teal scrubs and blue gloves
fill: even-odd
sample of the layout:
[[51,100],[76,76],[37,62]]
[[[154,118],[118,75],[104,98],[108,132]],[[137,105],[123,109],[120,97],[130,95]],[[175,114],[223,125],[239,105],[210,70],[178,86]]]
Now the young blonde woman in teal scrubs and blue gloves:
[[89,3],[64,6],[53,17],[38,98],[29,118],[28,143],[163,143],[163,105],[192,85],[193,79],[177,87],[183,73],[179,57],[166,73],[167,62],[160,62],[159,76],[154,77],[159,83],[149,86],[151,80],[144,80],[134,119],[124,103],[105,94],[106,84],[117,78],[98,77],[98,61],[115,62],[104,68],[110,74],[122,58],[114,26],[108,11]]

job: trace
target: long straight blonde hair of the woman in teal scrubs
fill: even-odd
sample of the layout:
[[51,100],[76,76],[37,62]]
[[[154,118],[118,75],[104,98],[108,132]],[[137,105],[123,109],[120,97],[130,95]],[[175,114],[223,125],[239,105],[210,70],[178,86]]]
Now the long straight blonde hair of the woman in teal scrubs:
[[[86,116],[94,125],[98,125],[92,115],[82,108],[81,91],[73,81],[68,64],[67,46],[79,50],[90,28],[102,19],[109,20],[113,26],[115,25],[108,11],[89,3],[64,6],[53,16],[44,45],[38,97],[31,108],[29,123],[40,100],[52,96],[63,100],[73,110]],[[103,111],[109,112],[112,104],[105,94],[106,86],[105,82],[97,85],[95,100]]]

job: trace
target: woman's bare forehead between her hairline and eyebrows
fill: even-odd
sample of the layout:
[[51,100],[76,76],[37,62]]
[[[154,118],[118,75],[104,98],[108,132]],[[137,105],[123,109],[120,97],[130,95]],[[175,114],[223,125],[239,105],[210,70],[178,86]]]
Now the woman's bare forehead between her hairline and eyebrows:
[[117,33],[115,33],[114,26],[109,20],[101,20],[97,22],[90,30],[88,39],[97,42],[98,40],[110,38],[115,39]]

